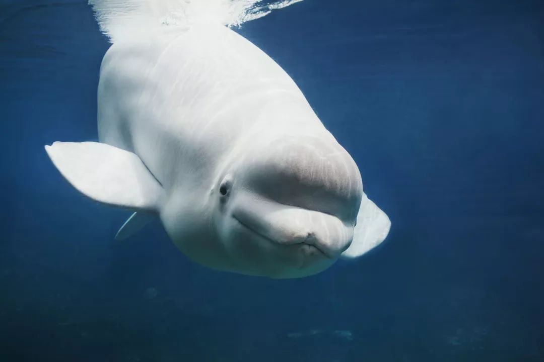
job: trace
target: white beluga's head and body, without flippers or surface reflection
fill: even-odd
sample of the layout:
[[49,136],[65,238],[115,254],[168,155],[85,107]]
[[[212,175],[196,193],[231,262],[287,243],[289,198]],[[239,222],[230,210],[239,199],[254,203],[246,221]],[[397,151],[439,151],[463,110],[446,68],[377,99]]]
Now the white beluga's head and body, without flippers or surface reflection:
[[285,71],[226,27],[115,43],[98,134],[162,184],[160,219],[196,262],[303,277],[351,243],[363,195],[355,162]]

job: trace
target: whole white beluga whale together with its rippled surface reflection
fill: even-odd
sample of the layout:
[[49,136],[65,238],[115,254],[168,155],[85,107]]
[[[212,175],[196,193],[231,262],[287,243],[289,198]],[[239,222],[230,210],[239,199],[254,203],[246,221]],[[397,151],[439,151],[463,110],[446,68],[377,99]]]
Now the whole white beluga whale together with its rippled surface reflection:
[[112,43],[100,68],[99,142],[45,149],[79,192],[133,212],[117,239],[158,217],[197,263],[300,278],[386,238],[390,220],[363,193],[353,158],[289,75],[230,27],[274,7],[89,3]]

